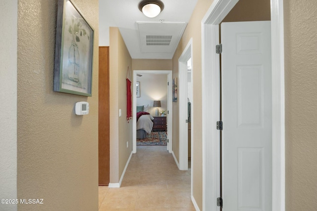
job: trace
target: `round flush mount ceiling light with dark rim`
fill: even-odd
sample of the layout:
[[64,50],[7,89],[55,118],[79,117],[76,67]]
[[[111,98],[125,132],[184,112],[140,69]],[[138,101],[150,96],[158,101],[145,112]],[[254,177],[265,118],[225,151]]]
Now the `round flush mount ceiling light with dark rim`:
[[149,18],[154,18],[164,9],[164,4],[160,0],[142,0],[139,9]]

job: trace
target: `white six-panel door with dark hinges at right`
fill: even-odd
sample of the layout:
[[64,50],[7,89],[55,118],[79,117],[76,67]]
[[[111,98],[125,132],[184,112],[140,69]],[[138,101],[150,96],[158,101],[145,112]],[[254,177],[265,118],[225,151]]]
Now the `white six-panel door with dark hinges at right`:
[[221,24],[223,211],[271,211],[270,21]]

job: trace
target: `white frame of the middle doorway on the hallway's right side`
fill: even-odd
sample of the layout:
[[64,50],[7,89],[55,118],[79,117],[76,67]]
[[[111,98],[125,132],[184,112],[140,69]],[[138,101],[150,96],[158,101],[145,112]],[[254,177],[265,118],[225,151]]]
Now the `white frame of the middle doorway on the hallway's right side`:
[[[187,61],[189,59],[192,60],[192,71],[191,71],[191,79],[193,79],[193,38],[189,40],[184,51],[180,55],[178,59],[178,84],[177,84],[177,100],[179,105],[179,165],[178,169],[180,170],[188,170],[188,123],[187,120],[187,106],[183,106],[187,104]],[[193,96],[193,83],[191,83],[191,95]],[[194,101],[194,100],[192,100]],[[193,102],[191,102],[191,110],[193,111]],[[182,106],[181,106],[182,105]],[[191,119],[193,120],[193,112]],[[191,131],[193,131],[194,124],[191,124]],[[193,146],[193,132],[191,132],[191,146]],[[192,151],[192,150],[191,150]],[[193,156],[191,155],[191,159]],[[191,161],[193,164],[193,161]],[[193,168],[191,168],[193,169]]]

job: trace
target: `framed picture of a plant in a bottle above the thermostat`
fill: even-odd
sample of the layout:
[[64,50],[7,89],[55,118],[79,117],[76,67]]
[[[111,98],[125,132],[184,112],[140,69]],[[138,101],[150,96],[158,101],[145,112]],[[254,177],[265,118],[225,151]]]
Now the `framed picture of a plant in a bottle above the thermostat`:
[[94,29],[71,0],[58,0],[53,91],[92,96]]

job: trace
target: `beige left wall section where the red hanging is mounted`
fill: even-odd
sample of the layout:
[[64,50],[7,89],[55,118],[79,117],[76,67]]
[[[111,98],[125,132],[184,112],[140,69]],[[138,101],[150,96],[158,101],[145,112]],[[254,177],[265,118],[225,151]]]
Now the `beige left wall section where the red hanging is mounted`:
[[[117,27],[110,27],[109,36],[110,183],[118,183],[132,152],[132,120],[128,123],[126,119],[126,76],[127,68],[129,66],[130,75],[132,77],[132,59]],[[129,75],[128,78],[130,78]],[[130,80],[132,81],[131,78]],[[122,111],[121,117],[118,115],[119,109]]]

